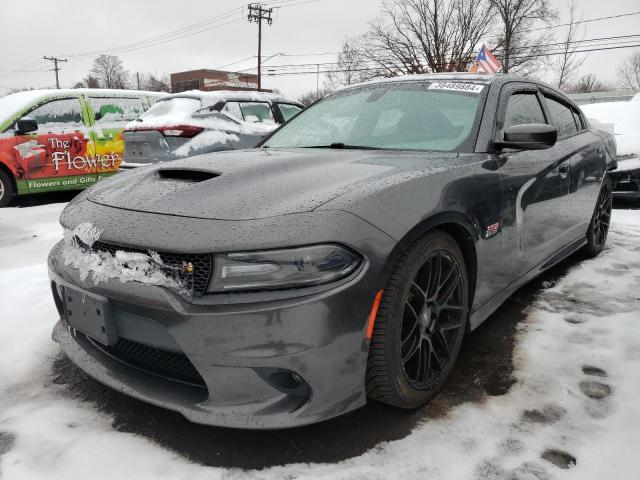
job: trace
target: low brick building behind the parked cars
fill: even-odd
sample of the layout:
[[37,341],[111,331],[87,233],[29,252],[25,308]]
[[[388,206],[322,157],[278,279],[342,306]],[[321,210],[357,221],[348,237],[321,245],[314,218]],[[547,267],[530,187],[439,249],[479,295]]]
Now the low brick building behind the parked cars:
[[171,74],[171,91],[257,90],[258,76],[222,70],[190,70]]

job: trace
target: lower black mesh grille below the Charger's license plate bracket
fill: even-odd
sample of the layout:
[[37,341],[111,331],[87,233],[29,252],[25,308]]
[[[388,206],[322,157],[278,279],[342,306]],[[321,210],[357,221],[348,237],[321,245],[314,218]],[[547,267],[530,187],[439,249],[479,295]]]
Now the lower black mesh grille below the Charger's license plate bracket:
[[184,353],[150,347],[126,338],[119,338],[118,343],[113,347],[102,345],[90,337],[87,338],[110,356],[141,370],[170,380],[190,383],[200,387],[207,386],[196,367],[193,366],[193,363]]

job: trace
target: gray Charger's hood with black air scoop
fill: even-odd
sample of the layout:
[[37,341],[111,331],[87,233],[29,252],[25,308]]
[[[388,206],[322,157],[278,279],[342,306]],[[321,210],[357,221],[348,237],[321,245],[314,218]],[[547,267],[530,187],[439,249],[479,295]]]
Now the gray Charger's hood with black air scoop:
[[239,150],[165,162],[95,185],[91,202],[218,220],[309,212],[373,180],[448,168],[457,154],[376,150]]

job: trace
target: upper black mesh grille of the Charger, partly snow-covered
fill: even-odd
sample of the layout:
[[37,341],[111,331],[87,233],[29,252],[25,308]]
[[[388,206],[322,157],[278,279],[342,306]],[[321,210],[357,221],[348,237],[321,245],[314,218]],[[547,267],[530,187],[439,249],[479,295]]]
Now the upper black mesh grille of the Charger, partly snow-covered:
[[[82,241],[76,238],[78,244],[87,248]],[[143,253],[148,255],[149,251],[138,248],[123,247],[119,245],[113,245],[105,242],[94,242],[91,245],[91,250],[96,252],[107,252],[111,255],[115,255],[117,251],[123,251],[128,253]],[[167,267],[173,275],[177,277],[177,280],[187,290],[193,292],[195,295],[204,295],[209,286],[209,277],[212,270],[211,255],[209,254],[190,254],[190,253],[169,253],[169,252],[157,252],[162,260],[162,263]],[[193,265],[192,273],[184,273],[182,267],[184,265]]]

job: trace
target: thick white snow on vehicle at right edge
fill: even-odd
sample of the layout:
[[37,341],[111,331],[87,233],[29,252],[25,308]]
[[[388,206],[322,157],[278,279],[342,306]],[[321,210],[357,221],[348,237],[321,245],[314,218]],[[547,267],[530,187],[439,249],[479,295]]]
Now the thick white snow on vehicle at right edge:
[[580,107],[595,128],[613,133],[618,155],[640,154],[640,102],[607,102]]

